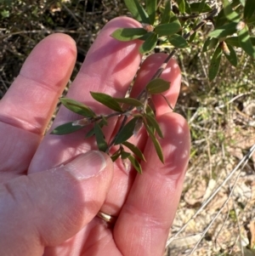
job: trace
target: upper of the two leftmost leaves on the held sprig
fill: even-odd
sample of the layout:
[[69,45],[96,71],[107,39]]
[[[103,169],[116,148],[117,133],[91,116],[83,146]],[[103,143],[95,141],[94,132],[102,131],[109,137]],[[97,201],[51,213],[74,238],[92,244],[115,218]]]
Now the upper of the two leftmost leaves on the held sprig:
[[68,98],[60,98],[59,100],[67,109],[83,117],[96,117],[94,111],[92,111],[87,105],[84,105],[77,100],[71,100]]

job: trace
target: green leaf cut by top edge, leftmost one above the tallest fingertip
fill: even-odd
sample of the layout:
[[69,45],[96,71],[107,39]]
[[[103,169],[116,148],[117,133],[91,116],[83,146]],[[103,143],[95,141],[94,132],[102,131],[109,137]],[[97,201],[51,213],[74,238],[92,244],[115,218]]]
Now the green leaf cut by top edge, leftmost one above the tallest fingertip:
[[135,20],[150,24],[149,15],[145,12],[143,6],[137,0],[124,0],[128,11]]

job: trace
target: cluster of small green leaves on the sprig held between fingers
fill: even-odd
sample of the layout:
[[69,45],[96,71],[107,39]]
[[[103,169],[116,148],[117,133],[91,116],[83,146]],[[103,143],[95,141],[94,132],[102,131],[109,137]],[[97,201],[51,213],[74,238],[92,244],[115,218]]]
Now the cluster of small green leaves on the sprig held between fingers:
[[[144,154],[136,145],[128,142],[133,135],[139,133],[139,130],[144,126],[148,136],[155,146],[156,153],[160,158],[161,162],[164,162],[161,145],[156,138],[159,136],[163,138],[160,125],[156,121],[155,112],[153,111],[154,106],[151,99],[152,94],[161,94],[169,89],[170,83],[161,79],[156,78],[151,80],[140,95],[138,99],[133,98],[113,98],[111,95],[90,92],[94,100],[100,104],[107,106],[111,111],[109,115],[97,115],[88,105],[84,105],[76,100],[68,98],[60,99],[61,103],[65,105],[67,109],[82,116],[82,119],[78,119],[73,122],[67,122],[60,125],[51,132],[55,135],[71,134],[82,128],[91,125],[92,128],[85,134],[85,138],[91,136],[95,137],[99,151],[106,153],[110,152],[112,146],[115,146],[117,150],[111,155],[111,159],[116,161],[117,158],[121,157],[124,165],[126,166],[127,160],[133,165],[139,174],[142,173],[142,168],[139,163],[140,160],[145,161]],[[104,126],[108,125],[108,120],[111,117],[124,116],[126,121],[122,122],[122,127],[116,133],[112,141],[106,141],[104,135]]]

